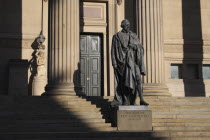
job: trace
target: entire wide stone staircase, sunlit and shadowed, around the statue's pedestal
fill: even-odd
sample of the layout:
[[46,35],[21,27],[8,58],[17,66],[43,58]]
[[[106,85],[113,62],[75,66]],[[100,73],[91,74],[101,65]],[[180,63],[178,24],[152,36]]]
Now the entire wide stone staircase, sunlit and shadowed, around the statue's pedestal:
[[152,132],[118,132],[112,100],[0,96],[0,140],[210,140],[210,98],[146,96]]

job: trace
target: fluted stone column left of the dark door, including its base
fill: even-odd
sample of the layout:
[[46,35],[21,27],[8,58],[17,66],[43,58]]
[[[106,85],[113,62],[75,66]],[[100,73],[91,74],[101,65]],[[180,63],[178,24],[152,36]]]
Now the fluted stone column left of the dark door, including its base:
[[46,95],[74,95],[74,73],[79,63],[79,0],[50,0],[49,8]]

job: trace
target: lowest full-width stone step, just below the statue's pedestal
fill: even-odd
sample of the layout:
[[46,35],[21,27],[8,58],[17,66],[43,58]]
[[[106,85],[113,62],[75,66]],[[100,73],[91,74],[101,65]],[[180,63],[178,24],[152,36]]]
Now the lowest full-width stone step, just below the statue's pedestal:
[[207,137],[210,136],[210,132],[199,132],[199,131],[153,131],[153,132],[60,132],[60,133],[54,133],[54,132],[40,132],[40,133],[7,133],[7,134],[1,134],[1,136],[15,136],[16,138],[48,138],[49,136],[52,137],[60,137],[60,138],[100,138],[100,137],[192,137],[192,136],[203,136]]

